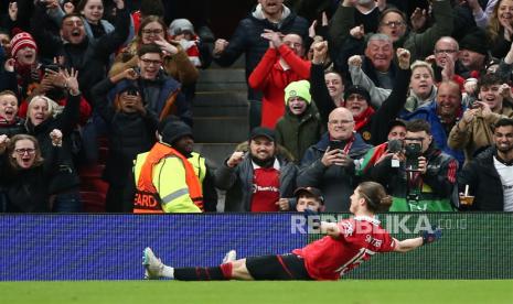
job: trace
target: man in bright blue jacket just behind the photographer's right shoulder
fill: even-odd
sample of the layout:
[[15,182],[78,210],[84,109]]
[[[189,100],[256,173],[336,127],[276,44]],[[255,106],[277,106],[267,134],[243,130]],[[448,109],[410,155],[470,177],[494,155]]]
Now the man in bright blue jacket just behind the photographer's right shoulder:
[[442,82],[438,87],[435,102],[418,108],[405,117],[406,120],[424,119],[431,126],[430,133],[437,146],[445,153],[463,164],[464,155],[461,150],[452,150],[448,144],[449,132],[461,119],[464,108],[461,105],[460,86],[452,82]]

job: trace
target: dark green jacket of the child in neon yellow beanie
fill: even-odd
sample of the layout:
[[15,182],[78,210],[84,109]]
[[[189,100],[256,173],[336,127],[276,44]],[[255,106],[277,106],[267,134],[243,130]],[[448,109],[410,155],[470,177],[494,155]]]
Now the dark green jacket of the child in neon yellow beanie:
[[308,148],[319,141],[323,130],[317,109],[311,105],[301,117],[287,108],[276,124],[276,142],[292,154],[295,163],[299,163]]

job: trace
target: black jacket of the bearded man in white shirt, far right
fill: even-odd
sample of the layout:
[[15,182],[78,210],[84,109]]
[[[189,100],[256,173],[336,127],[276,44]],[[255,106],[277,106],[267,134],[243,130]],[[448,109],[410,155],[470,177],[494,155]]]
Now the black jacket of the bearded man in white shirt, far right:
[[458,174],[458,185],[460,193],[464,192],[464,186],[469,185],[470,195],[475,196],[469,210],[479,211],[503,211],[504,194],[502,182],[493,164],[493,156],[496,155],[495,146],[491,146],[478,154]]

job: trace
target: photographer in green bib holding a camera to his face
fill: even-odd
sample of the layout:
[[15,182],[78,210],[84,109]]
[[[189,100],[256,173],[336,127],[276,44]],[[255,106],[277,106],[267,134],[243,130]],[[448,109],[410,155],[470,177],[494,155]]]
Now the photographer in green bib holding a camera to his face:
[[383,158],[370,174],[392,194],[391,211],[452,211],[457,170],[458,162],[432,142],[429,123],[412,120],[404,150]]

